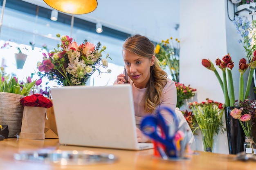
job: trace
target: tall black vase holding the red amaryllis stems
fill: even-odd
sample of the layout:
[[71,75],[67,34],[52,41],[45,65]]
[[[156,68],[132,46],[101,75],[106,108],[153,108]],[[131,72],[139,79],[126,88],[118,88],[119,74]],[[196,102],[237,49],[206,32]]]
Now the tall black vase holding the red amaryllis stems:
[[238,119],[230,116],[231,110],[236,107],[225,107],[225,118],[227,126],[227,139],[229,143],[229,154],[237,154],[244,151],[245,133]]

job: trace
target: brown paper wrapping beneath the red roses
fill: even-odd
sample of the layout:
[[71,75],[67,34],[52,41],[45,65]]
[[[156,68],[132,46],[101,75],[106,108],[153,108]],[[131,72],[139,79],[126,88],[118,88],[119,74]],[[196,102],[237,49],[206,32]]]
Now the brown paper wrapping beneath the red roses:
[[20,139],[45,139],[45,107],[25,106]]

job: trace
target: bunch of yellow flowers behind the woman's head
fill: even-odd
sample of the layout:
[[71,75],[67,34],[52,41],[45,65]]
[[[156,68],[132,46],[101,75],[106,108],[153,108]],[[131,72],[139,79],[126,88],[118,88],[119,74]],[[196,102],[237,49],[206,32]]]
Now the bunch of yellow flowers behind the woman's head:
[[176,38],[176,47],[174,47],[173,44],[173,37],[170,38],[171,43],[169,42],[169,39],[166,41],[162,40],[161,43],[157,44],[155,48],[155,56],[160,61],[160,65],[163,68],[166,68],[166,65],[168,66],[172,80],[175,82],[179,82],[179,74],[180,74],[180,41]]

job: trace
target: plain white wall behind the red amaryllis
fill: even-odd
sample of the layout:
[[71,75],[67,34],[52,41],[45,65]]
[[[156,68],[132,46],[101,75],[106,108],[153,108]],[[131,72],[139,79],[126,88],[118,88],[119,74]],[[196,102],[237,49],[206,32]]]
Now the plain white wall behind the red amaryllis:
[[[236,51],[231,42],[238,38],[229,39],[235,34],[236,28],[232,26],[232,22],[227,21],[225,3],[224,0],[180,2],[180,82],[197,89],[194,101],[202,102],[205,98],[210,98],[224,102],[224,95],[215,74],[204,68],[201,61],[210,59],[215,63],[217,58],[222,59],[228,52],[231,57],[233,54],[235,57]],[[238,63],[237,59],[232,59]],[[216,69],[222,76],[221,70]],[[234,77],[234,81],[236,80],[237,77]],[[187,105],[183,109],[188,109]],[[198,150],[203,149],[200,138],[199,136],[197,139]],[[217,136],[213,152],[229,153],[226,133]]]

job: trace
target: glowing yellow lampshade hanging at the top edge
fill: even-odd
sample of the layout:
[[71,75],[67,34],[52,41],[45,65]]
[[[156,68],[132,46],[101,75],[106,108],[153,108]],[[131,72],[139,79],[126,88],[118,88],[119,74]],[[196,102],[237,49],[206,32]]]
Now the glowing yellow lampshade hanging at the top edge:
[[50,7],[70,14],[85,14],[97,8],[97,0],[43,0]]

